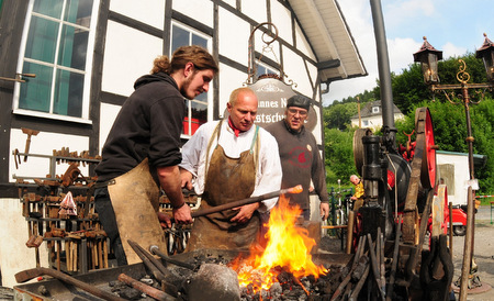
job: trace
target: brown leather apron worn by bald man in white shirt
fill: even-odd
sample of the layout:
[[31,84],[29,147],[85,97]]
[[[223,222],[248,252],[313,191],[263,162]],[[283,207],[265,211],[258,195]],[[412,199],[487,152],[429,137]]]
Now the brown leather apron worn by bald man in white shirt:
[[[222,122],[211,136],[206,158],[215,135],[216,141],[220,140]],[[259,127],[256,126],[250,149],[243,152],[239,158],[226,156],[223,147],[216,145],[209,166],[206,160],[205,186],[199,210],[246,199],[252,194],[259,153],[258,131]],[[237,213],[238,211],[225,210],[195,218],[186,252],[203,248],[247,250],[258,238],[259,212],[255,211],[247,223],[232,223],[229,220]]]

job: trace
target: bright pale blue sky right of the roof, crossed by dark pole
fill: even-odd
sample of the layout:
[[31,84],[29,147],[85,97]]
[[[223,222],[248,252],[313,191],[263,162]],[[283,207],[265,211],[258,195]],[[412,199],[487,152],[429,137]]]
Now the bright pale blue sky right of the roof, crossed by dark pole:
[[[370,0],[337,0],[366,66],[366,77],[329,85],[324,105],[372,90],[379,78],[378,54]],[[444,59],[474,53],[486,33],[494,41],[492,0],[381,0],[390,69],[396,75],[414,63],[423,36]],[[468,66],[467,66],[468,67]]]

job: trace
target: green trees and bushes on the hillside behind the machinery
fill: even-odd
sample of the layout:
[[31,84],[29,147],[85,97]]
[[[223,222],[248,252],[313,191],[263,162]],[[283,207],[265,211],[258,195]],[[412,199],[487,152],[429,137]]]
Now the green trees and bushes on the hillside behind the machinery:
[[[438,71],[441,85],[458,85],[457,74],[461,64],[459,58],[467,64],[470,75],[469,82],[486,82],[485,69],[481,59],[474,54],[465,54],[462,57],[452,57],[439,62]],[[419,64],[412,64],[401,75],[391,75],[393,102],[405,114],[405,119],[396,121],[396,145],[405,145],[408,137],[404,133],[412,133],[415,129],[415,110],[428,107],[433,118],[435,131],[435,144],[441,150],[468,153],[465,109],[458,97],[451,104],[441,92],[433,94],[424,83]],[[456,91],[457,93],[459,90]],[[470,89],[472,101],[478,96],[474,89]],[[493,92],[485,91],[485,99],[479,104],[470,103],[471,127],[474,137],[473,153],[485,155],[486,164],[475,169],[475,178],[479,179],[481,194],[494,192],[494,101]],[[325,155],[326,169],[329,183],[335,185],[337,179],[343,183],[348,182],[348,177],[356,172],[352,153],[352,136],[355,129],[350,129],[350,118],[357,112],[357,97],[363,108],[368,101],[379,100],[380,82],[372,91],[364,91],[355,97],[335,101],[324,108],[325,121]],[[433,101],[435,99],[435,101]],[[380,135],[379,133],[374,133]],[[412,136],[412,141],[415,135]]]

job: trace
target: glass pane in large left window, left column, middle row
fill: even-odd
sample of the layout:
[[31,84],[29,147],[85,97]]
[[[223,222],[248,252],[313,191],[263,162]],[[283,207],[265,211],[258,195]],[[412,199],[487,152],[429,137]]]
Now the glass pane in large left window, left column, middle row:
[[57,32],[58,23],[33,15],[25,45],[25,57],[54,63]]

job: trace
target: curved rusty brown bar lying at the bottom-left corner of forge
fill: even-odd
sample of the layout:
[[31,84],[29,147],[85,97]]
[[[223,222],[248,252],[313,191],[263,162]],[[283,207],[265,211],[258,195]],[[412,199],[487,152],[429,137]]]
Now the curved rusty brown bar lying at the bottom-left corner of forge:
[[90,293],[94,294],[96,297],[102,298],[104,300],[110,300],[110,301],[123,300],[111,292],[104,291],[102,289],[97,288],[93,285],[86,283],[86,282],[80,281],[74,277],[70,277],[61,271],[50,269],[50,268],[33,268],[33,269],[26,269],[26,270],[20,271],[18,274],[15,274],[15,280],[18,282],[22,283],[22,282],[29,281],[33,278],[36,278],[36,277],[40,277],[43,275],[48,275],[48,276],[56,278],[63,282],[78,287],[78,288],[80,288],[87,292],[90,292]]

